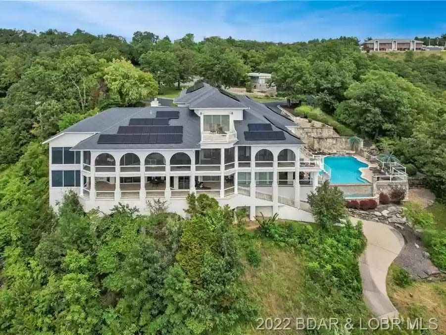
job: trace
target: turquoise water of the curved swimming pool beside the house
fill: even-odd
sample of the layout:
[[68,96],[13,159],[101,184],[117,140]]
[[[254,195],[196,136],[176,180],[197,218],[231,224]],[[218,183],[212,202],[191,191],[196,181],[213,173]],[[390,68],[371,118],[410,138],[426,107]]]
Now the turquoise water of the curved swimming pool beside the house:
[[331,168],[330,182],[333,184],[366,183],[361,178],[359,168],[366,168],[367,164],[351,156],[326,156],[324,163]]

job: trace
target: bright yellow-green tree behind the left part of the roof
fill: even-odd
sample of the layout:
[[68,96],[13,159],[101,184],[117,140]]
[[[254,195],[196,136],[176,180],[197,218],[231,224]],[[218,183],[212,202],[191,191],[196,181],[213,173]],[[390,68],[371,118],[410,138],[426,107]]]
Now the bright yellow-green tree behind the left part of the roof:
[[104,80],[110,92],[119,97],[121,106],[133,106],[155,96],[158,91],[150,73],[137,69],[124,59],[115,59],[105,68]]

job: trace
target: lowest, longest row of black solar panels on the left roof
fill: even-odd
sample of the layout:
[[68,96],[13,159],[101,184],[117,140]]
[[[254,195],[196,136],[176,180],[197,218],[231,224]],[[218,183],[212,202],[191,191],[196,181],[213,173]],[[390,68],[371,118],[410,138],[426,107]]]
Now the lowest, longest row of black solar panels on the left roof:
[[98,144],[183,143],[183,134],[100,134]]

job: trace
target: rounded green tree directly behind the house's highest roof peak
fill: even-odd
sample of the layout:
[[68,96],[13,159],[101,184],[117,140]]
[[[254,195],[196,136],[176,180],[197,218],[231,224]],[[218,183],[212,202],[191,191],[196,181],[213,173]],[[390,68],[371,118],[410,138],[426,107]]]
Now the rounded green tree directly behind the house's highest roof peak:
[[198,58],[198,75],[212,85],[230,87],[244,84],[247,72],[248,67],[242,57],[231,50],[207,46]]

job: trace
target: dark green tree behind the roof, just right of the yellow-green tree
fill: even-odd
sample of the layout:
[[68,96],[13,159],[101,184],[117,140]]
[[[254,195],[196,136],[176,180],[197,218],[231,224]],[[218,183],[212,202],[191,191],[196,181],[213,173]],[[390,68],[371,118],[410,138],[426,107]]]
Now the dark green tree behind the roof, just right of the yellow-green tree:
[[158,87],[172,86],[180,77],[180,62],[173,52],[149,51],[141,56],[139,62],[143,71],[153,75]]

